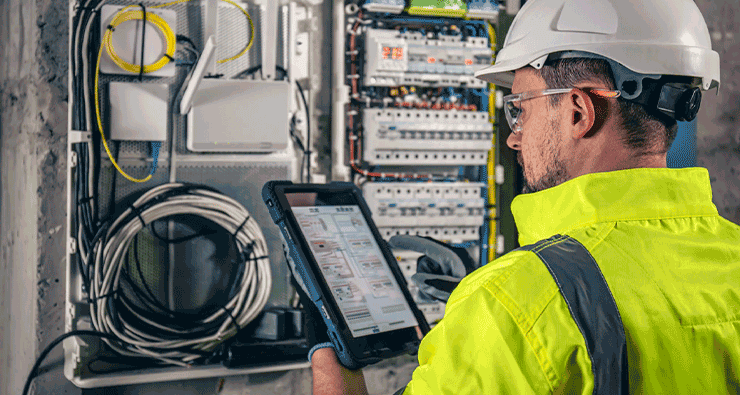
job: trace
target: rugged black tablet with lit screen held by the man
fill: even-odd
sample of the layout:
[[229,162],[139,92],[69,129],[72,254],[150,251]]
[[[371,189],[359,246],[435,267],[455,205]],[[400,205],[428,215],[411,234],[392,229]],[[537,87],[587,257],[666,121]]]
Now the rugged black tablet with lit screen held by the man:
[[351,183],[270,181],[262,197],[288,264],[350,369],[415,351],[429,331],[398,263]]

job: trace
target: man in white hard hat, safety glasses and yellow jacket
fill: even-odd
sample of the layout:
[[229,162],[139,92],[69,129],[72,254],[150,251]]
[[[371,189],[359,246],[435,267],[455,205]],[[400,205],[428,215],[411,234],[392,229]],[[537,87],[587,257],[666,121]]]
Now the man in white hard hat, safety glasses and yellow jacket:
[[[706,169],[666,168],[676,121],[719,85],[693,1],[530,0],[477,76],[511,84],[530,246],[464,278],[398,393],[740,393],[740,227]],[[331,348],[313,371],[317,394],[366,393]]]

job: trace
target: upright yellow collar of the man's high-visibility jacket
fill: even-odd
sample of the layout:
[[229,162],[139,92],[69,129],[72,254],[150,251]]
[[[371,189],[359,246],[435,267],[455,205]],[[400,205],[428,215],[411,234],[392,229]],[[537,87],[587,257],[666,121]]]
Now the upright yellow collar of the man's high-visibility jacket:
[[586,174],[514,198],[519,244],[599,222],[718,215],[705,168],[637,168]]

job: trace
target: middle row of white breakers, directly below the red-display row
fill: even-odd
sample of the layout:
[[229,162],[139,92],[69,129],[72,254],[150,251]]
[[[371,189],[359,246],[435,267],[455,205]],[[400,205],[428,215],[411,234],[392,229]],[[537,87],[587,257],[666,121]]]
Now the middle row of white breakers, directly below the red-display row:
[[493,138],[485,112],[366,109],[363,127],[372,165],[485,165]]

